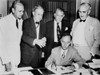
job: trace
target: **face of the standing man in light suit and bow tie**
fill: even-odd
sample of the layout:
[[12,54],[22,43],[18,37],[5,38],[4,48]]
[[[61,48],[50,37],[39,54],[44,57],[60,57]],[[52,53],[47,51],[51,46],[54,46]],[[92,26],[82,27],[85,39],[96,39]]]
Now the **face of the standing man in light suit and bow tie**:
[[80,19],[85,20],[90,14],[89,7],[81,6],[79,9]]

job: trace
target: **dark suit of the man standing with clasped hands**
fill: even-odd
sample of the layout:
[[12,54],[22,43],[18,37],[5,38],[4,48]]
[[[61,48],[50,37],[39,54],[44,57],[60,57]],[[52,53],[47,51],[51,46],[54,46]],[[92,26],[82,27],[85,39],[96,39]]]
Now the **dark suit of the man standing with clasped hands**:
[[[40,22],[40,32],[39,39],[45,36],[45,24]],[[23,35],[21,40],[21,55],[22,55],[22,63],[25,65],[29,65],[32,61],[38,63],[39,50],[41,48],[38,45],[33,46],[33,41],[36,39],[36,27],[33,18],[29,18],[24,20],[23,22]],[[32,65],[33,65],[32,64]]]

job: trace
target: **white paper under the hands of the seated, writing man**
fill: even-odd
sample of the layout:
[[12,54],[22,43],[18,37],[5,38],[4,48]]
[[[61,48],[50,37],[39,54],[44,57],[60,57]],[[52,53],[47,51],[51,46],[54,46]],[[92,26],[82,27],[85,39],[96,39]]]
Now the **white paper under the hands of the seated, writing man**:
[[63,67],[63,66],[57,66],[57,69],[52,69],[51,66],[48,66],[47,69],[54,72],[55,74],[72,73],[73,72],[73,70],[71,70],[67,67]]

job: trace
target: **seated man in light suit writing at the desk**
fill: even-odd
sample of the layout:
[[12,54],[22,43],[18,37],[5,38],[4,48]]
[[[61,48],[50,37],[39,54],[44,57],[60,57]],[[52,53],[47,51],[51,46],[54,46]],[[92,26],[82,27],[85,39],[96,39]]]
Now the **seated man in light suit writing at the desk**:
[[61,46],[52,49],[51,55],[45,62],[45,67],[72,65],[73,62],[78,63],[79,67],[82,67],[85,61],[78,54],[77,50],[71,46],[71,35],[63,34],[60,42]]

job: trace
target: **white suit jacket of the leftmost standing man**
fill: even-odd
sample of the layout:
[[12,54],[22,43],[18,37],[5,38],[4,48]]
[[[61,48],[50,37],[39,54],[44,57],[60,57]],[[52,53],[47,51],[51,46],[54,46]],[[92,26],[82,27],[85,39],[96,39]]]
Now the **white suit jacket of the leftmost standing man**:
[[16,19],[12,13],[0,20],[0,54],[3,63],[11,61],[15,65],[19,64],[21,28],[19,26],[17,29]]

